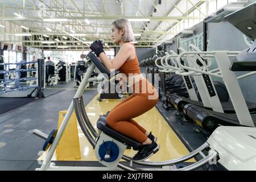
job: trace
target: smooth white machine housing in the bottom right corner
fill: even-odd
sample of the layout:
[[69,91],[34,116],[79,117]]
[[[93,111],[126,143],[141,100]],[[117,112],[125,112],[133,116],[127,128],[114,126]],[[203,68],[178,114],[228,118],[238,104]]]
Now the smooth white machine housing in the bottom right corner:
[[218,162],[228,170],[256,170],[256,129],[254,127],[220,126],[207,142],[218,152]]

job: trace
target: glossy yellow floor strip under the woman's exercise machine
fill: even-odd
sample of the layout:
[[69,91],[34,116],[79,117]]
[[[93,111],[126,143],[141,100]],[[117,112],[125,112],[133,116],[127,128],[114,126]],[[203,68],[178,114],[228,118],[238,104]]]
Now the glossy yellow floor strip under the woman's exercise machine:
[[[97,98],[93,98],[92,101],[85,107],[86,113],[92,125],[96,128],[96,122],[98,117],[105,114],[108,110],[111,110],[115,105],[117,105],[120,100],[102,100],[98,101]],[[160,150],[152,155],[147,161],[162,161],[180,158],[181,156],[187,155],[189,151],[177,137],[168,123],[164,120],[159,111],[154,107],[147,111],[143,115],[134,118],[140,125],[142,125],[147,131],[152,131],[155,137],[158,137],[157,143],[160,144]],[[81,161],[97,161],[94,155],[94,150],[88,140],[85,138],[84,134],[79,125],[79,143],[81,152]],[[97,130],[97,129],[96,129]],[[66,148],[68,150],[68,148]],[[127,149],[125,155],[133,157],[137,151],[132,149]],[[39,158],[42,160],[42,156]],[[56,160],[56,156],[53,155],[52,160]],[[194,159],[188,160],[188,162],[195,162]]]

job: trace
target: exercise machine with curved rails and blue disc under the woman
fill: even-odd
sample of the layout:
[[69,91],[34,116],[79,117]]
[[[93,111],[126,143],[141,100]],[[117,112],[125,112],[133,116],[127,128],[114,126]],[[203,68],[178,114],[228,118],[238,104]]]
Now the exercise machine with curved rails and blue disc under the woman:
[[[155,166],[155,167],[158,167],[158,168],[155,168],[158,170],[159,169],[170,170],[170,169],[177,169],[174,164],[184,162],[185,160],[193,158],[195,155],[201,155],[202,150],[208,149],[209,145],[205,143],[196,151],[193,151],[191,154],[188,154],[183,158],[165,161],[165,162],[135,162],[131,160],[130,157],[123,155],[123,152],[125,151],[127,145],[129,145],[130,147],[133,147],[135,150],[138,150],[138,148],[141,146],[141,143],[138,143],[134,139],[131,139],[120,133],[117,133],[117,131],[114,131],[112,128],[106,125],[106,115],[102,115],[97,121],[97,128],[102,131],[101,134],[98,135],[98,132],[94,129],[94,127],[89,121],[88,116],[86,115],[86,111],[84,109],[85,108],[84,102],[82,100],[82,91],[84,90],[86,83],[90,81],[89,77],[92,74],[94,67],[97,67],[102,73],[104,73],[106,79],[112,78],[113,76],[117,75],[119,72],[115,71],[110,73],[108,69],[104,67],[101,61],[92,52],[89,52],[86,58],[89,61],[88,70],[81,84],[79,85],[79,88],[77,89],[77,92],[75,94],[75,97],[73,98],[73,101],[71,102],[71,105],[69,105],[69,109],[67,111],[67,114],[64,117],[63,122],[61,123],[61,126],[59,127],[59,130],[53,131],[48,137],[46,134],[43,134],[41,131],[34,130],[34,134],[38,135],[43,139],[46,139],[46,143],[44,144],[44,146],[49,147],[48,148],[49,150],[47,151],[47,154],[44,157],[43,164],[40,167],[40,170],[46,170],[46,169],[106,170],[106,169],[117,169],[117,168],[121,168],[125,170],[137,170],[138,168],[133,167],[133,163],[141,164],[141,165],[144,165],[145,167]],[[55,166],[54,163],[51,163],[53,152],[55,151],[57,143],[59,142],[61,135],[63,134],[63,131],[65,129],[65,126],[69,121],[69,117],[71,117],[71,114],[73,113],[74,109],[76,111],[77,121],[79,122],[82,132],[85,134],[89,143],[92,144],[92,146],[95,148],[95,154],[98,161],[104,164],[104,166],[108,168],[60,167],[60,166]],[[210,152],[209,155],[207,156],[202,155],[202,158],[203,158],[202,160],[192,164],[192,166],[188,166],[181,169],[185,170],[185,169],[199,168],[204,164],[208,163],[209,160],[213,160],[214,158],[217,158],[217,155],[218,155],[217,152]],[[126,161],[129,161],[130,164],[127,165],[125,163],[120,162],[121,158]]]

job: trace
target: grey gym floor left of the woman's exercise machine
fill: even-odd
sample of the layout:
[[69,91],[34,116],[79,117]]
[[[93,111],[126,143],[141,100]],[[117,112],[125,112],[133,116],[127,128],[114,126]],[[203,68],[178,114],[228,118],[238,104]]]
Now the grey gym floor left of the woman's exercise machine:
[[[68,89],[43,100],[35,100],[0,115],[0,170],[28,170],[39,158],[44,140],[32,134],[34,129],[45,133],[57,127],[59,111],[67,110],[76,89]],[[85,90],[85,104],[97,94],[96,88]]]

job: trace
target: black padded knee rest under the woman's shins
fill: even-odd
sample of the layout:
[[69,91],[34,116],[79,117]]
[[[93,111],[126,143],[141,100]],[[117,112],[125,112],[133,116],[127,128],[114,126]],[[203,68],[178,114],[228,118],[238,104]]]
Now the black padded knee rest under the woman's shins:
[[97,128],[103,131],[106,135],[109,135],[110,137],[118,140],[119,142],[125,143],[128,146],[133,147],[133,150],[139,150],[139,148],[142,146],[142,144],[137,142],[136,140],[130,137],[126,137],[125,135],[122,135],[109,127],[106,123],[106,115],[101,115],[101,117],[98,118]]

